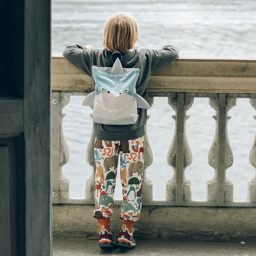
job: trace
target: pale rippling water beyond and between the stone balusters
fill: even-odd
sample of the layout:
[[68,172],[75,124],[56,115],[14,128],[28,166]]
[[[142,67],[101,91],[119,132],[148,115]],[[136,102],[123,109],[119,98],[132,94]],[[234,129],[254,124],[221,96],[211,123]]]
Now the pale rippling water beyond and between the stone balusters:
[[[61,54],[70,44],[92,44],[102,48],[104,22],[117,12],[126,12],[140,27],[139,48],[162,48],[174,44],[180,48],[180,58],[213,58],[216,56],[256,56],[256,2],[254,0],[53,0],[52,54]],[[72,198],[84,198],[85,181],[92,169],[85,160],[92,122],[90,109],[82,107],[83,97],[72,96],[64,112],[64,133],[70,149],[70,161],[63,168],[70,178]],[[166,155],[174,133],[174,111],[167,98],[155,98],[148,111],[148,136],[153,151],[153,163],[147,176],[153,181],[154,200],[164,200],[166,180],[173,170]],[[208,165],[208,150],[212,143],[214,110],[207,98],[195,98],[188,111],[187,136],[193,162],[186,169],[191,180],[192,199],[205,200],[206,180],[214,175]],[[248,99],[237,99],[229,112],[228,134],[234,153],[234,163],[227,178],[234,183],[234,200],[245,201],[247,182],[255,169],[248,156],[255,136],[255,110]],[[115,199],[121,199],[121,185],[116,184]]]

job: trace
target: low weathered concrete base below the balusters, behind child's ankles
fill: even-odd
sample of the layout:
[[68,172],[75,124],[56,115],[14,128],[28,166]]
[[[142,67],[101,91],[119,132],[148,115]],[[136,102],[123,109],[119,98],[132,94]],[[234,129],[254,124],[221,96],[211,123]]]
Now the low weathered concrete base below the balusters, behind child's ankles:
[[[54,236],[98,239],[93,211],[94,205],[53,205]],[[111,218],[115,233],[122,223],[119,214],[116,207]],[[256,242],[255,216],[250,207],[142,206],[135,237]]]

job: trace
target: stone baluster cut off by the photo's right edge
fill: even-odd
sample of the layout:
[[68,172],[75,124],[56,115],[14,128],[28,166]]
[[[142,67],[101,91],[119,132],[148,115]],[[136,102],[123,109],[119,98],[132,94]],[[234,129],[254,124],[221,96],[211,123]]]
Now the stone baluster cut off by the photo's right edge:
[[[249,99],[250,104],[256,110],[256,99]],[[256,116],[253,116],[256,120]],[[256,168],[256,136],[254,138],[254,142],[252,144],[250,154],[249,154],[250,164]],[[256,175],[248,180],[248,193],[247,193],[247,202],[256,202]]]

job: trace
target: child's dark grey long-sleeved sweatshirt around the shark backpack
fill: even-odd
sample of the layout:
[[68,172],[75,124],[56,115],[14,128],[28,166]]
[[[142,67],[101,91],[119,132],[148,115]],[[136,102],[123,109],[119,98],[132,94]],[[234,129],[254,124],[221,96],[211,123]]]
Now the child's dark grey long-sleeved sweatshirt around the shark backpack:
[[[92,77],[92,66],[112,67],[114,62],[112,52],[103,50],[88,50],[82,45],[68,46],[63,52],[64,58],[71,64]],[[139,68],[140,75],[136,83],[136,92],[145,97],[146,86],[152,74],[164,68],[179,57],[176,46],[164,46],[160,50],[140,49],[124,54],[123,68]],[[94,81],[94,80],[93,80]],[[145,134],[144,125],[147,121],[147,110],[140,108],[135,124],[108,125],[94,123],[96,138],[100,140],[132,140]]]

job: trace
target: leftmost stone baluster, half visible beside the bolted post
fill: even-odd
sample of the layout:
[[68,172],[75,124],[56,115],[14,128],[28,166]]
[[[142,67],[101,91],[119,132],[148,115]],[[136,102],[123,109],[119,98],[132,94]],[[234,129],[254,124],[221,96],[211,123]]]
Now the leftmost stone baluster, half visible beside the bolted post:
[[60,198],[69,198],[69,178],[64,176],[62,172],[62,167],[66,164],[69,160],[69,149],[68,144],[66,142],[64,132],[63,132],[63,118],[66,116],[63,113],[63,108],[68,105],[70,102],[70,94],[66,92],[60,92],[60,103],[59,103],[59,110],[60,110],[60,156],[59,156],[59,165],[60,165],[60,183],[59,183],[59,192]]

